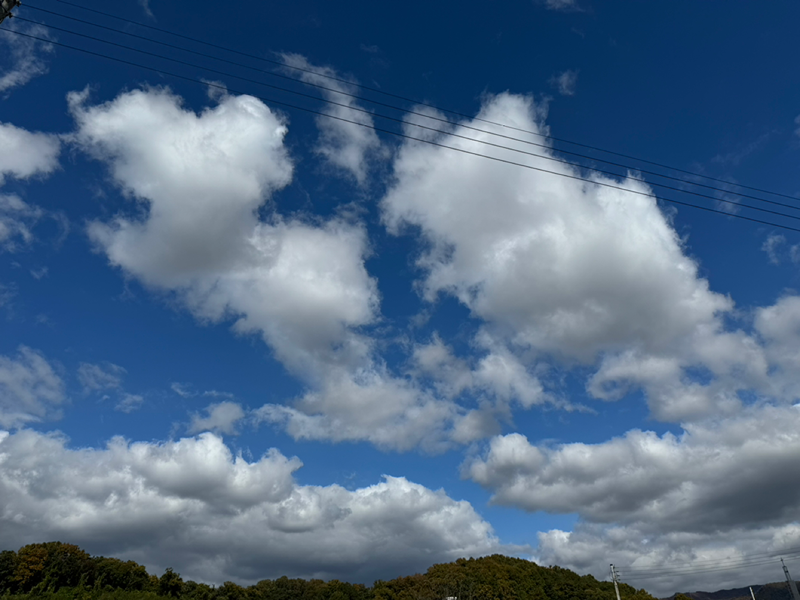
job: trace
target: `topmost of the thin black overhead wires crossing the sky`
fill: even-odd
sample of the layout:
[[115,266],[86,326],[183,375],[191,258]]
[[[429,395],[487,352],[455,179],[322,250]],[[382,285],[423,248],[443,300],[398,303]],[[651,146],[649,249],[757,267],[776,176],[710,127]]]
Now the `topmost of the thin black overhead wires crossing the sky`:
[[[344,79],[344,78],[341,78],[341,77],[336,77],[334,75],[330,75],[330,74],[327,74],[327,73],[321,73],[321,72],[315,71],[313,69],[305,69],[305,68],[302,68],[302,67],[286,65],[285,63],[283,63],[281,61],[265,58],[263,56],[258,56],[258,55],[250,54],[250,53],[247,53],[247,52],[242,52],[240,50],[235,50],[233,48],[228,48],[228,47],[225,47],[225,46],[221,46],[221,45],[218,45],[218,44],[214,44],[214,43],[211,43],[211,42],[208,42],[208,41],[205,41],[205,40],[201,40],[201,39],[198,39],[198,38],[194,38],[194,37],[191,37],[191,36],[187,36],[187,35],[184,35],[184,34],[175,33],[173,31],[169,31],[167,29],[162,29],[160,27],[156,27],[154,25],[149,25],[147,23],[142,23],[140,21],[134,21],[132,19],[126,19],[126,18],[120,17],[118,15],[114,15],[114,14],[107,13],[107,12],[104,12],[104,11],[101,11],[101,10],[97,10],[97,9],[93,9],[93,8],[89,8],[87,6],[83,6],[81,4],[76,4],[74,2],[69,2],[68,0],[56,0],[56,2],[60,2],[61,4],[66,4],[68,6],[79,8],[81,10],[85,10],[85,11],[88,11],[88,12],[99,14],[99,15],[102,15],[102,16],[105,16],[105,17],[109,17],[109,18],[112,18],[112,19],[117,19],[117,20],[122,21],[124,23],[129,23],[129,24],[132,24],[132,25],[137,25],[139,27],[144,27],[144,28],[150,29],[152,31],[158,31],[160,33],[165,33],[167,35],[172,35],[172,36],[175,36],[175,37],[187,40],[187,41],[191,41],[191,42],[198,43],[198,44],[203,44],[203,45],[206,45],[206,46],[208,46],[210,48],[215,48],[217,50],[224,50],[226,52],[231,52],[233,54],[237,54],[237,55],[240,55],[240,56],[245,56],[247,58],[252,58],[252,59],[259,60],[259,61],[262,61],[262,62],[266,62],[266,63],[269,63],[269,64],[277,65],[277,66],[280,66],[282,68],[288,68],[288,69],[295,70],[295,71],[298,71],[298,72],[312,74],[312,75],[315,75],[317,77],[322,77],[324,79],[328,79],[328,80],[331,80],[331,81],[337,81],[337,82],[340,82],[340,83],[346,83],[347,85],[354,86],[354,87],[357,87],[357,88],[362,89],[362,90],[367,90],[367,91],[370,91],[370,92],[373,92],[373,93],[376,93],[376,94],[381,94],[381,95],[386,96],[386,97],[395,98],[397,100],[402,100],[404,102],[410,102],[410,103],[413,103],[413,104],[417,104],[419,106],[424,106],[426,108],[432,108],[432,109],[435,109],[435,110],[438,110],[438,111],[441,111],[441,112],[444,112],[444,113],[448,113],[448,114],[455,115],[455,116],[458,116],[458,117],[461,117],[461,118],[469,119],[471,121],[479,121],[479,122],[482,122],[482,123],[496,125],[496,126],[504,127],[506,129],[509,129],[509,130],[512,130],[512,131],[518,131],[518,132],[521,132],[521,133],[539,135],[544,139],[549,139],[549,140],[552,140],[554,142],[560,142],[560,143],[564,143],[564,144],[571,144],[573,146],[578,146],[580,148],[586,148],[587,150],[593,150],[595,152],[603,152],[605,154],[618,156],[620,158],[625,158],[627,160],[639,161],[641,163],[652,165],[652,166],[656,166],[656,167],[659,167],[659,168],[662,168],[662,169],[669,169],[669,170],[672,170],[672,171],[683,173],[685,175],[691,175],[692,177],[706,179],[706,180],[709,180],[709,181],[715,181],[717,183],[724,183],[725,185],[733,185],[735,187],[739,187],[739,188],[742,188],[742,189],[747,189],[747,190],[750,190],[750,191],[759,192],[759,193],[763,193],[763,194],[771,194],[771,195],[782,197],[782,198],[786,198],[786,199],[789,199],[789,200],[795,200],[795,201],[798,200],[798,198],[796,196],[792,196],[790,194],[783,194],[783,193],[780,193],[780,192],[773,192],[773,191],[770,191],[770,190],[765,190],[763,188],[748,186],[748,185],[744,185],[744,184],[740,184],[740,183],[733,183],[733,182],[727,181],[725,179],[712,177],[710,175],[704,175],[702,173],[697,173],[695,171],[689,171],[689,170],[685,170],[685,169],[680,169],[678,167],[673,167],[673,166],[670,166],[670,165],[667,165],[667,164],[664,164],[664,163],[659,163],[659,162],[656,162],[656,161],[646,160],[646,159],[643,159],[643,158],[631,156],[631,155],[624,154],[624,153],[621,153],[621,152],[615,152],[615,151],[612,151],[612,150],[606,150],[606,149],[600,148],[598,146],[592,146],[592,145],[589,145],[589,144],[583,144],[583,143],[580,143],[580,142],[567,140],[565,138],[558,138],[558,137],[551,136],[551,135],[545,135],[545,134],[541,134],[539,132],[530,131],[530,130],[519,128],[519,127],[514,127],[514,126],[508,125],[506,123],[500,123],[500,122],[497,122],[497,121],[491,121],[489,119],[482,119],[482,118],[477,117],[477,116],[470,116],[470,115],[464,114],[462,112],[458,112],[458,111],[447,109],[447,108],[441,108],[441,107],[436,106],[434,104],[421,102],[421,101],[415,100],[413,98],[409,98],[407,96],[402,96],[400,94],[387,92],[387,91],[381,90],[379,88],[375,88],[375,87],[371,87],[371,86],[368,86],[368,85],[360,84],[360,83],[357,83],[357,82],[349,81],[347,79]],[[372,101],[372,100],[367,100],[367,101],[375,102],[375,101]],[[563,151],[563,150],[559,150],[559,151],[566,152],[566,151]],[[607,161],[602,161],[601,159],[596,159],[596,160],[598,160],[600,162],[607,162]],[[697,185],[699,185],[699,184],[697,184]]]

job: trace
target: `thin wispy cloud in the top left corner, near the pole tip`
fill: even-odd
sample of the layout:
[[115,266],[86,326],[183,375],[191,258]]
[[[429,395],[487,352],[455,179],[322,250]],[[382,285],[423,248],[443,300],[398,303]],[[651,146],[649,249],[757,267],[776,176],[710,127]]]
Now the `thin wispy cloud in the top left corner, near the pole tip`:
[[[49,31],[41,25],[6,20],[5,28],[43,39],[50,39]],[[53,46],[32,38],[0,30],[0,47],[7,59],[0,65],[0,94],[7,94],[15,87],[28,83],[34,77],[47,72],[45,56],[53,52]]]

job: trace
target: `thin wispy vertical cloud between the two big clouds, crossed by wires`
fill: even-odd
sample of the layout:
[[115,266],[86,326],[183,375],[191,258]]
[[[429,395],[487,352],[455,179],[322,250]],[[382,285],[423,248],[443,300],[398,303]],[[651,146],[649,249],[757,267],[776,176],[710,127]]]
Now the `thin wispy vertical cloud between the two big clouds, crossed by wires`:
[[[282,59],[289,67],[303,69],[300,72],[292,71],[302,81],[334,90],[322,90],[326,100],[344,105],[335,106],[331,104],[325,107],[325,113],[337,117],[335,119],[317,117],[317,127],[320,130],[317,152],[324,156],[331,165],[348,172],[360,185],[363,185],[367,178],[370,163],[376,158],[385,156],[386,153],[378,134],[371,129],[373,126],[372,117],[360,110],[352,110],[352,108],[360,109],[361,106],[350,96],[337,93],[346,92],[352,94],[356,91],[356,88],[342,81],[330,79],[331,77],[342,79],[342,77],[333,69],[312,65],[305,57],[299,54],[284,54]],[[313,73],[307,71],[313,71]],[[319,75],[315,73],[319,73]],[[339,119],[355,121],[361,125],[346,123]],[[362,125],[365,125],[365,127]]]

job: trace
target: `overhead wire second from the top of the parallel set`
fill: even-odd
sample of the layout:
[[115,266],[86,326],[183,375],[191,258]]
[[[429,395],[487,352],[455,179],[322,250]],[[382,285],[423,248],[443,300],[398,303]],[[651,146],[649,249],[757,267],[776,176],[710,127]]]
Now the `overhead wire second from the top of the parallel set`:
[[[746,193],[743,193],[743,192],[736,192],[736,191],[728,190],[728,189],[721,190],[717,186],[709,185],[709,184],[706,184],[706,183],[699,183],[697,181],[690,181],[690,180],[687,180],[687,179],[682,178],[682,177],[676,177],[674,175],[668,175],[668,174],[665,174],[665,173],[659,173],[657,171],[641,169],[641,168],[634,167],[634,166],[631,166],[631,165],[628,165],[628,164],[619,163],[619,162],[610,161],[610,160],[605,160],[605,159],[602,159],[602,158],[599,158],[599,157],[596,157],[596,156],[591,156],[591,155],[583,154],[583,153],[580,153],[580,152],[573,152],[573,151],[569,151],[569,150],[564,150],[563,148],[554,148],[552,145],[549,145],[549,144],[543,144],[543,143],[540,143],[540,142],[534,142],[532,140],[526,140],[526,139],[519,138],[519,137],[514,137],[514,136],[510,136],[510,135],[504,135],[502,133],[497,133],[495,131],[488,131],[486,129],[481,129],[479,127],[473,127],[471,125],[467,125],[466,123],[453,123],[450,119],[445,119],[445,118],[442,118],[442,117],[439,117],[439,116],[426,114],[426,113],[419,112],[419,111],[416,111],[416,110],[413,110],[413,109],[403,108],[403,107],[396,106],[396,105],[393,105],[393,104],[387,104],[385,102],[378,102],[376,100],[372,100],[370,98],[365,98],[364,96],[359,96],[358,94],[352,94],[350,92],[347,92],[347,91],[344,91],[344,90],[341,90],[341,89],[336,89],[336,88],[324,86],[324,85],[321,85],[319,83],[314,83],[312,81],[305,81],[305,80],[302,80],[302,79],[297,79],[296,77],[285,75],[283,73],[277,73],[275,71],[270,71],[270,70],[267,70],[267,69],[260,69],[258,67],[253,67],[251,65],[246,65],[246,64],[243,64],[241,62],[227,60],[227,59],[219,57],[219,56],[214,56],[212,54],[207,54],[205,52],[198,52],[196,50],[185,48],[183,46],[170,44],[168,42],[163,42],[163,41],[156,40],[156,39],[153,39],[153,38],[150,38],[150,37],[147,37],[147,36],[143,36],[143,35],[137,35],[135,33],[129,32],[129,31],[124,31],[124,30],[121,30],[121,29],[115,29],[113,27],[108,27],[108,26],[102,25],[100,23],[94,23],[92,21],[79,19],[79,18],[73,17],[71,15],[66,15],[66,14],[63,14],[63,13],[56,12],[56,11],[48,10],[48,9],[41,8],[41,7],[38,7],[38,6],[35,6],[35,5],[31,5],[31,4],[27,4],[26,3],[26,7],[32,8],[34,10],[37,10],[37,11],[40,11],[40,12],[44,12],[44,13],[47,13],[47,14],[50,14],[50,15],[55,15],[57,17],[61,17],[61,18],[64,18],[64,19],[69,19],[69,20],[75,21],[77,23],[82,23],[84,25],[89,25],[91,27],[97,27],[99,29],[104,29],[106,31],[111,31],[111,32],[116,33],[116,34],[125,35],[125,36],[128,36],[128,37],[132,37],[134,39],[143,40],[143,41],[150,42],[150,43],[153,43],[153,44],[158,44],[158,45],[164,46],[166,48],[179,50],[181,52],[186,52],[186,53],[189,53],[189,54],[194,54],[196,56],[201,56],[203,58],[216,60],[216,61],[219,61],[219,62],[222,62],[222,63],[225,63],[225,64],[229,64],[229,65],[232,65],[232,66],[242,67],[242,68],[245,68],[245,69],[249,69],[251,71],[256,71],[258,73],[262,73],[262,74],[268,75],[270,77],[277,77],[277,78],[285,79],[285,80],[292,81],[292,82],[295,82],[295,83],[301,83],[303,85],[314,87],[314,88],[323,90],[325,92],[330,92],[330,93],[333,93],[333,94],[339,94],[341,96],[346,96],[346,97],[349,97],[349,98],[353,98],[355,100],[360,100],[362,102],[368,102],[368,103],[374,104],[376,106],[382,106],[384,108],[397,110],[397,111],[400,111],[400,112],[403,112],[403,113],[406,113],[406,114],[415,115],[415,116],[422,117],[422,118],[425,118],[425,119],[429,119],[429,120],[432,120],[432,121],[437,121],[437,122],[441,122],[441,123],[447,123],[448,125],[457,125],[458,127],[462,128],[462,129],[469,130],[469,131],[475,131],[475,132],[478,132],[478,133],[483,133],[483,134],[495,136],[495,137],[498,137],[498,138],[501,138],[501,139],[505,139],[505,140],[509,140],[509,141],[520,142],[522,144],[529,145],[529,146],[536,146],[536,147],[539,147],[539,148],[545,148],[547,150],[556,151],[556,152],[558,152],[560,154],[567,154],[567,155],[570,155],[570,156],[575,156],[577,158],[583,158],[583,159],[586,159],[586,160],[600,162],[600,163],[611,165],[611,166],[614,166],[614,167],[627,169],[629,171],[636,171],[637,173],[640,173],[640,174],[643,174],[643,175],[651,175],[651,176],[654,176],[654,177],[661,177],[663,179],[668,179],[668,180],[671,180],[671,181],[677,181],[677,182],[680,182],[680,183],[683,183],[683,184],[686,184],[686,185],[689,185],[689,186],[701,187],[701,188],[714,190],[714,191],[722,192],[722,193],[729,194],[729,195],[739,196],[741,198],[747,198],[749,200],[756,200],[756,201],[759,201],[759,202],[765,202],[765,203],[768,203],[768,204],[774,204],[774,205],[778,205],[778,206],[783,206],[783,207],[789,208],[791,210],[800,210],[800,205],[791,205],[791,204],[786,204],[784,202],[775,202],[773,200],[767,200],[767,199],[761,198],[759,196],[753,196],[751,194],[746,194]],[[22,19],[22,20],[23,21],[28,21],[28,22],[34,22],[34,21],[31,21],[30,19]],[[74,35],[85,35],[85,34],[79,34],[79,33],[75,32],[75,31],[72,31],[72,30],[60,29],[60,28],[58,28],[56,26],[53,26],[53,25],[47,25],[47,26],[52,28],[52,29],[56,29],[56,30],[59,30],[59,31],[64,31],[66,33],[71,33],[71,34],[74,34]],[[87,37],[95,39],[93,36],[87,36]],[[115,42],[106,42],[106,43],[113,43],[113,44],[116,45]],[[126,46],[121,46],[121,47],[128,48]],[[166,57],[162,57],[162,58],[166,58]],[[166,58],[166,59],[167,60],[172,60],[172,59],[169,59],[169,58]],[[274,61],[274,62],[276,62],[276,64],[282,65],[283,68],[288,68],[288,69],[294,68],[291,65],[288,65],[286,63],[278,63],[277,61]],[[314,75],[319,76],[319,77],[323,76],[323,74],[319,73],[319,72],[310,71],[308,69],[301,69],[301,70],[303,72],[306,72],[306,73],[313,73]],[[350,86],[356,85],[354,82],[347,82],[346,80],[339,79],[339,78],[334,78],[334,79],[336,81],[343,81],[343,82],[347,83]],[[245,79],[245,80],[246,81],[252,81],[252,80],[249,80],[249,79]],[[260,84],[261,85],[269,85],[269,84],[266,84],[266,83],[260,83]],[[296,93],[296,92],[287,90],[285,88],[277,87],[277,86],[270,86],[270,87],[275,87],[276,89],[279,89],[281,91],[289,91],[290,93]],[[300,95],[305,95],[305,94],[300,94]],[[327,103],[333,104],[335,106],[343,106],[343,107],[349,108],[351,110],[358,110],[360,112],[365,112],[365,113],[370,114],[370,115],[374,114],[371,111],[366,110],[366,109],[361,109],[359,107],[354,107],[354,106],[347,105],[347,104],[337,103],[337,102],[334,102],[334,101],[331,101],[331,100],[328,100],[328,99],[325,99],[325,98],[321,98],[321,100],[323,102],[327,102]],[[377,115],[377,116],[380,116],[380,117],[383,117],[383,118],[391,118],[391,117],[386,117],[384,115]],[[477,119],[476,117],[472,117],[471,120],[475,121],[475,120],[482,120],[482,119]],[[439,131],[438,128],[432,128],[432,129],[435,129],[435,130]],[[537,135],[538,137],[541,137],[541,138],[547,138],[548,137],[548,136],[543,135],[541,133],[535,133],[535,132],[528,132],[528,133],[531,133],[533,135]],[[594,170],[594,171],[597,171],[597,172],[600,172],[600,173],[603,173],[603,174],[612,174],[612,173],[609,173],[608,171],[596,169],[596,168],[593,168],[593,167],[588,167],[588,166],[585,166],[585,165],[579,165],[578,163],[574,163],[574,162],[570,162],[570,161],[564,161],[563,159],[560,159],[558,157],[544,156],[544,155],[541,155],[541,154],[534,154],[534,153],[531,153],[531,156],[539,156],[541,158],[547,158],[548,160],[556,160],[556,161],[559,161],[559,162],[566,162],[567,164],[581,166],[581,167],[584,167],[584,168],[587,168],[587,169],[591,169],[591,170]],[[613,173],[613,175],[617,176],[618,174]],[[727,183],[730,185],[731,182],[727,182]],[[654,185],[656,185],[656,184],[654,183]],[[670,189],[670,190],[676,190],[676,191],[681,191],[681,192],[684,191],[682,189],[677,189],[677,188],[674,188],[674,187],[668,187],[668,186],[665,186],[665,187],[666,187],[666,189]],[[763,191],[762,193],[772,194],[773,192]],[[792,196],[789,196],[789,198],[792,198],[795,201],[800,201],[800,198],[794,198]]]

